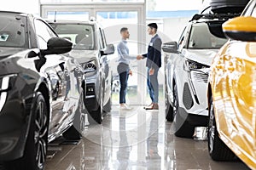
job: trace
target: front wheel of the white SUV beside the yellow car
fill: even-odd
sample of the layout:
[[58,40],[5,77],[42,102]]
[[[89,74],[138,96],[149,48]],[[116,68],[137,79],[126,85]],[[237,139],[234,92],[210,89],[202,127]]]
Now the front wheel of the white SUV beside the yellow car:
[[178,95],[177,95],[177,85],[174,85],[173,88],[173,112],[175,116],[175,136],[182,137],[182,138],[192,138],[194,134],[194,126],[190,125],[187,121],[187,117],[181,116],[181,113],[179,112],[179,105],[178,105]]

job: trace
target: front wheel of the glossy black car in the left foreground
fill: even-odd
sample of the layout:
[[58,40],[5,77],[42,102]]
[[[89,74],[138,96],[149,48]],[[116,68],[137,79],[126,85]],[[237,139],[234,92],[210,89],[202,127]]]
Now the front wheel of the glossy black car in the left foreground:
[[24,155],[15,161],[5,162],[7,169],[43,170],[48,144],[49,116],[44,97],[36,94],[32,119],[26,139]]

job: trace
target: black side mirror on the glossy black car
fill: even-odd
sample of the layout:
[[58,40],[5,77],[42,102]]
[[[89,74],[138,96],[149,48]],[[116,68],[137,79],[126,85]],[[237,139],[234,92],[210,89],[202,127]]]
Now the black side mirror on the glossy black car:
[[47,49],[41,50],[43,55],[65,54],[71,51],[73,43],[65,38],[51,37],[47,42]]

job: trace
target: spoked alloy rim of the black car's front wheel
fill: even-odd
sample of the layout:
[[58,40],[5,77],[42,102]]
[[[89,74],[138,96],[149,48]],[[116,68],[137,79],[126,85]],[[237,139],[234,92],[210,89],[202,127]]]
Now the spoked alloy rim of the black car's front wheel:
[[35,118],[35,146],[36,146],[36,163],[39,169],[44,167],[46,158],[47,141],[47,116],[45,114],[45,104],[40,101],[36,109]]

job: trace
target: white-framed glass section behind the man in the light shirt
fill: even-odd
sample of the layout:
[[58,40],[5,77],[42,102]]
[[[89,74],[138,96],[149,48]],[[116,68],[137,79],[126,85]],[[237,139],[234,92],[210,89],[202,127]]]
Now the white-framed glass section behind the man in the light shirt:
[[[146,8],[144,1],[41,1],[40,15],[50,20],[93,20],[95,18],[104,28],[108,43],[116,47],[120,41],[119,30],[128,27],[130,54],[143,54],[148,48]],[[113,3],[116,2],[116,3]],[[122,3],[121,3],[122,2]],[[124,5],[125,3],[125,5]],[[118,54],[108,56],[113,71],[113,105],[119,104],[119,77],[116,60]],[[131,61],[133,76],[129,78],[127,103],[130,105],[146,104],[146,67],[145,59]],[[117,83],[116,83],[117,82]]]

